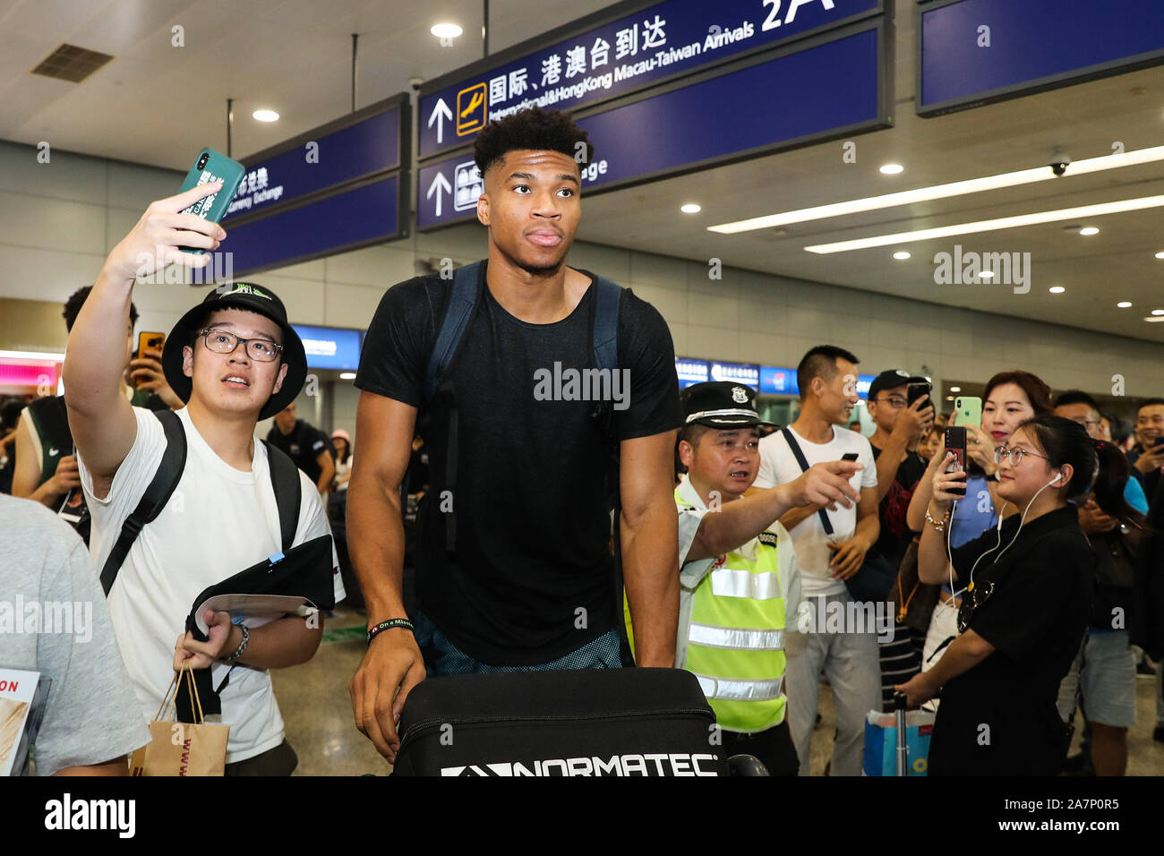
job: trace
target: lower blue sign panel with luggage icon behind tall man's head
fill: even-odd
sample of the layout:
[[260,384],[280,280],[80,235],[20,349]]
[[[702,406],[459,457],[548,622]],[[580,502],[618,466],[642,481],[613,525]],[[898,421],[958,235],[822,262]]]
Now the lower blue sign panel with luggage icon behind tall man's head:
[[[854,24],[577,119],[595,144],[583,194],[885,127],[887,37],[880,20]],[[420,168],[420,229],[475,217],[471,162],[466,153]]]

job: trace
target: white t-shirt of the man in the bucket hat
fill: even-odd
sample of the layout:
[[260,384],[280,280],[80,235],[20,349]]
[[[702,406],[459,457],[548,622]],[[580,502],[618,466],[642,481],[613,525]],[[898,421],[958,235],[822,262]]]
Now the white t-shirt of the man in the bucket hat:
[[[98,568],[121,532],[165,450],[162,423],[149,410],[134,408],[137,437],[118,467],[105,498],[93,496],[93,481],[78,460],[85,498],[93,518],[90,553]],[[109,592],[109,615],[126,671],[147,721],[155,719],[173,679],[173,644],[185,631],[194,599],[210,586],[262,561],[281,550],[278,507],[271,489],[267,447],[255,441],[251,472],[229,466],[206,444],[179,410],[186,432],[186,464],[162,514],[137,536]],[[294,544],[327,535],[331,529],[315,486],[299,473],[303,500]],[[333,551],[335,600],[343,595],[339,561]],[[221,693],[222,717],[230,726],[226,761],[246,761],[283,742],[271,678],[265,670],[225,664],[211,666]],[[211,717],[211,721],[214,721]]]

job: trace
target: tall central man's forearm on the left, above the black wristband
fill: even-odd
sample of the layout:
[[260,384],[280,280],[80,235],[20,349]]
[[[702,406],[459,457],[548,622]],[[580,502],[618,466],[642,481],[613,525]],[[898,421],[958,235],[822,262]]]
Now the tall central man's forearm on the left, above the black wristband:
[[399,493],[369,477],[348,482],[348,553],[368,622],[404,616],[404,518]]

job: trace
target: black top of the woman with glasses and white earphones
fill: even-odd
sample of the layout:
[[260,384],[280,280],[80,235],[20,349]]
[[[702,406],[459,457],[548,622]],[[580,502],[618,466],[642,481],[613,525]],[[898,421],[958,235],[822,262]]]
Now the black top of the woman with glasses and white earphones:
[[[1094,557],[1074,505],[1030,521],[1006,550],[1018,518],[1002,524],[1002,546],[978,563],[963,595],[967,628],[995,650],[943,687],[931,776],[1056,776],[1065,757],[1056,698],[1087,628]],[[998,543],[992,529],[952,552],[959,585]]]

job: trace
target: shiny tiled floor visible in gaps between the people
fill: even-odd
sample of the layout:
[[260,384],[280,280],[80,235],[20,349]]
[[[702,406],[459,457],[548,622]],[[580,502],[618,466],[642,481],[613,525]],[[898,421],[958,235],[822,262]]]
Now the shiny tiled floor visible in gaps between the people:
[[[339,609],[327,627],[362,627],[363,623],[363,616],[354,610]],[[308,663],[274,672],[286,736],[299,755],[296,776],[385,776],[391,772],[375,747],[353,724],[348,681],[364,650],[362,639],[326,642]],[[1164,743],[1152,740],[1156,726],[1154,691],[1154,681],[1136,681],[1138,724],[1128,734],[1129,776],[1164,774]],[[832,755],[835,729],[832,693],[828,686],[822,686],[821,724],[812,734],[814,776],[823,774],[824,764]],[[1077,748],[1078,743],[1077,734]]]

